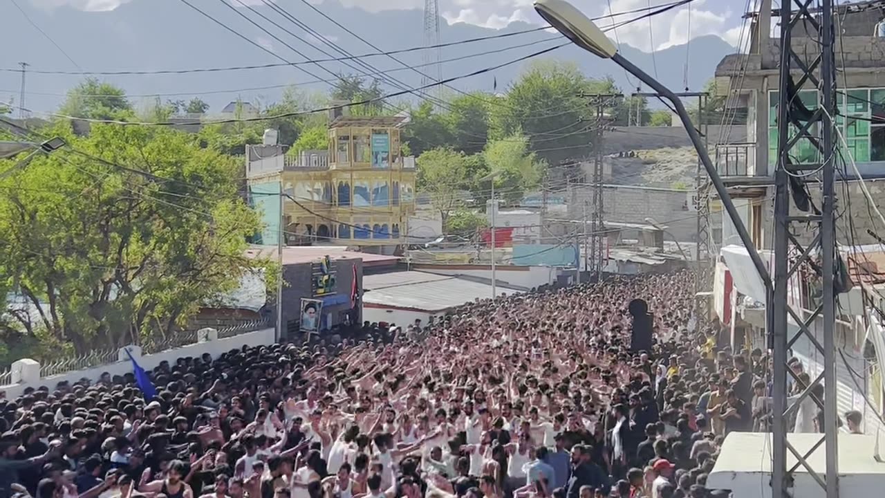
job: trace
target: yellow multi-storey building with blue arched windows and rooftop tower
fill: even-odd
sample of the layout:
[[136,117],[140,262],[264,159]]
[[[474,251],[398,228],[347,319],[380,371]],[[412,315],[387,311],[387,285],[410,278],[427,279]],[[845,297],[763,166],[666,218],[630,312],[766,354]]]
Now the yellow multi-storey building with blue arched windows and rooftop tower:
[[265,144],[247,145],[250,201],[264,215],[264,243],[277,240],[282,219],[289,245],[403,244],[414,212],[415,161],[400,154],[402,122],[338,116],[326,150],[297,155],[276,143],[275,130],[267,130]]

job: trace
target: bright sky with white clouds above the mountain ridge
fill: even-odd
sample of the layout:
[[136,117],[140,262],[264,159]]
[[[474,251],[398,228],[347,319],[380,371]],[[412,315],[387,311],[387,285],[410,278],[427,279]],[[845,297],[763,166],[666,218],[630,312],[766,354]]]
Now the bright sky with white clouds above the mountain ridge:
[[[72,6],[82,11],[109,11],[129,2],[154,2],[158,0],[27,0],[35,7],[54,9]],[[311,0],[322,4],[328,0]],[[367,11],[392,9],[421,9],[424,0],[337,0],[345,6],[356,6]],[[749,0],[754,4],[757,0]],[[247,3],[261,4],[260,0]],[[532,0],[439,0],[440,12],[450,23],[466,22],[484,27],[504,27],[522,20],[540,23],[541,19],[532,9]],[[647,7],[649,4],[666,4],[669,0],[573,0],[573,4],[590,16],[609,12],[624,12]],[[650,51],[679,43],[689,37],[719,35],[728,43],[737,44],[741,32],[741,16],[748,0],[695,0],[680,9],[666,12],[650,22],[636,22],[618,29],[622,43]],[[689,13],[690,11],[690,13]],[[623,19],[623,18],[622,18]],[[690,22],[689,22],[690,19]],[[604,21],[601,23],[604,25]],[[690,28],[689,28],[690,27]]]

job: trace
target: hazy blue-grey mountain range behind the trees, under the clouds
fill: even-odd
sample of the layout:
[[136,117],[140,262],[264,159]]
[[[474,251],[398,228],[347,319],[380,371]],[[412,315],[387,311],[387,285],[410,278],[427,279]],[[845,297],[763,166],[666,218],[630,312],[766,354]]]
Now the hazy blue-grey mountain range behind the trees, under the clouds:
[[[37,112],[51,111],[63,100],[70,89],[84,77],[76,74],[39,74],[37,71],[143,71],[165,69],[190,69],[197,67],[250,66],[281,63],[280,58],[258,48],[256,44],[273,51],[288,61],[304,60],[286,47],[284,43],[304,53],[307,58],[341,57],[341,52],[329,48],[320,36],[337,43],[343,51],[352,54],[366,54],[375,49],[348,34],[341,27],[313,12],[300,0],[278,0],[276,4],[296,19],[300,19],[317,35],[306,33],[302,28],[285,19],[279,12],[262,5],[256,11],[273,19],[286,30],[300,36],[298,40],[279,27],[274,27],[266,19],[257,17],[246,9],[231,9],[227,0],[218,2],[193,2],[206,14],[230,27],[235,35],[218,23],[189,8],[179,0],[135,1],[121,4],[108,12],[81,12],[69,7],[58,7],[52,11],[37,9],[27,2],[19,2],[26,9],[27,16],[42,29],[52,41],[42,35],[20,12],[6,9],[4,27],[0,30],[0,101],[19,101],[21,74],[17,69],[20,61],[30,66],[26,74],[27,108]],[[8,6],[8,5],[7,5]],[[373,43],[381,51],[397,51],[424,45],[423,14],[419,10],[365,12],[358,8],[348,8],[337,0],[327,0],[319,5],[323,12],[343,27]],[[239,12],[239,13],[238,13]],[[273,36],[242,19],[240,13],[250,16]],[[539,23],[541,19],[538,19]],[[440,19],[440,41],[453,43],[466,39],[517,33],[539,25],[513,22],[500,30],[478,27],[466,23],[449,25]],[[249,41],[247,41],[247,39]],[[250,43],[254,42],[253,43]],[[474,43],[459,43],[440,50],[440,58],[452,60],[442,65],[443,78],[471,74],[483,68],[497,66],[505,62],[525,57],[536,51],[565,43],[565,38],[548,31],[535,31],[519,35],[494,38]],[[64,53],[63,53],[63,51]],[[696,38],[686,45],[676,45],[654,54],[639,51],[626,44],[621,45],[621,53],[637,66],[658,74],[658,79],[672,89],[688,87],[700,90],[704,82],[712,78],[720,60],[735,48],[720,37],[707,35]],[[484,53],[489,52],[489,53]],[[65,56],[65,53],[67,54]],[[476,57],[466,58],[472,54]],[[688,55],[688,58],[687,58]],[[69,59],[69,58],[70,59]],[[409,51],[395,56],[406,65],[420,65],[424,62],[422,51]],[[611,61],[595,58],[572,45],[543,54],[538,58],[559,58],[572,60],[581,66],[585,74],[593,77],[611,75],[625,93],[636,87],[635,78],[615,66]],[[415,87],[421,84],[423,76],[415,71],[404,69],[399,62],[385,56],[360,58],[385,77],[396,78],[404,85]],[[686,62],[689,62],[686,71]],[[218,112],[227,103],[241,98],[243,101],[270,103],[281,97],[286,85],[300,85],[305,89],[324,89],[331,81],[332,74],[359,74],[368,71],[350,61],[350,66],[342,62],[299,66],[313,75],[304,74],[292,66],[272,68],[189,74],[138,74],[103,75],[106,82],[112,82],[126,89],[132,100],[150,102],[154,96],[166,99],[189,99],[199,96]],[[507,85],[519,75],[526,61],[501,67],[493,72],[479,74],[452,82],[452,86],[464,90],[504,91]],[[355,69],[356,67],[357,69]],[[324,69],[325,68],[325,69]],[[419,71],[435,74],[433,67],[420,67]],[[383,85],[385,91],[396,91]]]

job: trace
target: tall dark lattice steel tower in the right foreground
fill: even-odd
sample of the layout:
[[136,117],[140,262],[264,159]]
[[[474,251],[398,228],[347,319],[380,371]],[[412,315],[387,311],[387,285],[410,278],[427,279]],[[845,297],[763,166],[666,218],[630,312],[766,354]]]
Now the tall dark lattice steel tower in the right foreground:
[[[789,5],[797,4],[791,11]],[[768,329],[773,349],[773,427],[772,427],[772,491],[778,498],[789,496],[793,484],[793,472],[800,466],[827,492],[827,498],[839,496],[839,467],[837,460],[838,432],[836,422],[836,382],[835,382],[835,51],[833,0],[821,0],[820,10],[809,12],[812,0],[781,2],[781,66],[778,103],[778,156],[774,169],[774,285],[772,299],[766,307]],[[767,3],[764,3],[767,4]],[[799,52],[792,47],[792,29],[798,26],[803,36],[814,37],[817,31],[820,54],[807,53],[807,45],[802,44]],[[761,27],[765,29],[766,27]],[[815,74],[819,72],[820,75]],[[795,73],[795,74],[791,74]],[[797,80],[793,80],[798,76]],[[799,89],[819,91],[817,107],[809,116],[810,110],[799,103]],[[800,141],[812,144],[818,149],[816,164],[793,164],[790,151]],[[795,180],[790,181],[790,175]],[[790,215],[790,190],[802,184],[804,191],[820,188],[820,214]],[[820,187],[818,187],[820,185]],[[798,193],[797,193],[798,195]],[[815,196],[809,196],[815,198]],[[799,243],[792,229],[799,229],[806,223],[817,224],[818,233],[810,245]],[[790,255],[790,245],[794,248]],[[820,264],[810,261],[820,254]],[[820,304],[810,315],[804,315],[800,308],[790,306],[789,280],[801,275],[800,268],[812,268],[820,274],[823,283]],[[801,277],[801,276],[800,276]],[[799,331],[792,334],[788,329],[788,316],[798,324]],[[823,331],[823,344],[811,331],[812,323],[820,320]],[[793,371],[787,366],[788,351],[798,339],[805,336],[823,358],[823,371],[812,380],[812,384],[798,396],[796,401],[787,400],[787,378]],[[807,453],[799,453],[789,443],[787,421],[795,413],[799,403],[811,395],[812,389],[823,382],[824,399],[812,399],[824,409],[823,435],[820,441]],[[788,406],[789,405],[789,406]],[[826,468],[815,469],[809,456],[814,451],[823,451]],[[797,463],[788,467],[787,455],[793,455]],[[818,460],[820,462],[820,460]]]

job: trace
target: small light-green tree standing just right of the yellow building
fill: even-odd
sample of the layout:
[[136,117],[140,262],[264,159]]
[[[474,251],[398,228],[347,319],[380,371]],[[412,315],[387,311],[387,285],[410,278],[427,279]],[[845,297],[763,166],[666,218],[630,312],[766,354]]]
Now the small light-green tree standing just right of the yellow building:
[[466,156],[464,152],[440,147],[423,152],[417,166],[418,191],[427,192],[445,226],[452,211],[461,206],[462,194],[466,191]]

